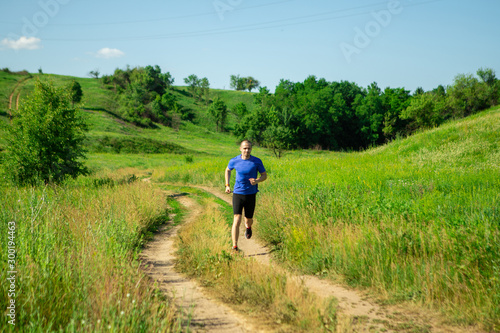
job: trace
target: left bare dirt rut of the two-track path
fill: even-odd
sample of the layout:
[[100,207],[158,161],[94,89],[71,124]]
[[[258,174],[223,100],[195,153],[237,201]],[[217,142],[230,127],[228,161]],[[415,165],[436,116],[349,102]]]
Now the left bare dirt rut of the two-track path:
[[[178,200],[188,208],[184,223],[201,214],[201,207],[193,199],[181,196]],[[160,289],[175,299],[182,310],[183,325],[189,324],[190,332],[258,332],[243,316],[207,296],[198,283],[174,270],[174,236],[178,230],[179,226],[164,226],[143,250],[141,260]]]

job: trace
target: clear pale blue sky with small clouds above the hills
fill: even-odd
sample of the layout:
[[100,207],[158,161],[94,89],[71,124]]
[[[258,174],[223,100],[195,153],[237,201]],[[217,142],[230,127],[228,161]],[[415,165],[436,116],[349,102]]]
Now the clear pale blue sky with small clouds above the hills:
[[498,0],[2,0],[0,68],[86,77],[159,65],[229,89],[233,74],[274,90],[309,75],[362,87],[449,85],[500,76]]

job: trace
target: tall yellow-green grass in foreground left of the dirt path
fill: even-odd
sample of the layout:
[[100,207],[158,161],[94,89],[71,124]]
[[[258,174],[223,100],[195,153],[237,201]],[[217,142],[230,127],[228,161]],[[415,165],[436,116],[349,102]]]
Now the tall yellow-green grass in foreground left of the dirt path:
[[[129,171],[129,170],[128,170]],[[2,331],[165,332],[176,310],[140,269],[138,253],[167,219],[166,198],[121,172],[62,186],[0,187],[0,279],[15,222],[15,326]],[[0,303],[8,304],[8,284]]]

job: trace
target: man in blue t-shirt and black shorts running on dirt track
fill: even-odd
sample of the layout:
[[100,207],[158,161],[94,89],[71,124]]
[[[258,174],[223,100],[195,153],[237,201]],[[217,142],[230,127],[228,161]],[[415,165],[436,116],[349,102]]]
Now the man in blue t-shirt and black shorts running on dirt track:
[[[251,156],[252,143],[243,140],[240,144],[241,155],[232,158],[227,165],[226,193],[231,193],[229,180],[231,179],[231,170],[236,169],[236,183],[233,190],[233,228],[231,236],[233,238],[233,250],[238,251],[238,238],[240,236],[241,214],[245,210],[245,237],[252,237],[253,213],[255,210],[255,197],[259,192],[258,183],[267,179],[266,169],[262,161]],[[257,178],[257,172],[260,177]]]

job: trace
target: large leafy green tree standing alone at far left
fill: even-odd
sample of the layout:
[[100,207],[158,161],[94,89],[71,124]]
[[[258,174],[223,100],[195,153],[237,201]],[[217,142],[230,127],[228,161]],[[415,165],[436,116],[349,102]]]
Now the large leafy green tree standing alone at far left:
[[67,89],[35,82],[34,92],[13,110],[7,127],[7,176],[19,185],[58,183],[88,173],[83,140],[88,130]]

